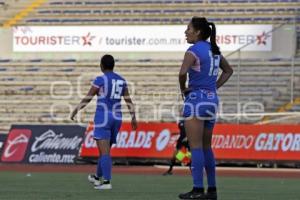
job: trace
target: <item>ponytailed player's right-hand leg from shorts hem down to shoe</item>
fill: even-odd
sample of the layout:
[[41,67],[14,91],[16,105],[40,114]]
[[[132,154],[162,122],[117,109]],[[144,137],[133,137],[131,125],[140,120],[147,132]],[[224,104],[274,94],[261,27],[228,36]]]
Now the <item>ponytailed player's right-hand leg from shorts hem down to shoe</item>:
[[205,171],[207,175],[207,199],[217,199],[217,188],[216,188],[216,164],[213,150],[211,148],[212,134],[213,134],[214,122],[206,121],[203,134],[203,152],[205,160]]

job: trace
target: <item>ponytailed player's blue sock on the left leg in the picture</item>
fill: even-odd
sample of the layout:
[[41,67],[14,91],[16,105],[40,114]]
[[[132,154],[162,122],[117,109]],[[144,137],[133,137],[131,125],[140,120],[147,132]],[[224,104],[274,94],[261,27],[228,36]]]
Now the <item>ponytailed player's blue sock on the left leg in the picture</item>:
[[201,148],[191,149],[192,177],[195,188],[203,188],[204,155]]

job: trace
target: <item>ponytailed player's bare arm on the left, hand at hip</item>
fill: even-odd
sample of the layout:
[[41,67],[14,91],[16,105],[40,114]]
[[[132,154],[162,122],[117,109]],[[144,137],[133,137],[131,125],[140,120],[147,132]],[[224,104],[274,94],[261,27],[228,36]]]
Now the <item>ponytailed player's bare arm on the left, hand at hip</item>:
[[183,58],[183,62],[179,71],[179,86],[181,94],[185,94],[189,91],[190,88],[186,88],[185,82],[187,79],[187,72],[191,66],[193,66],[196,62],[196,58],[190,52],[186,52]]

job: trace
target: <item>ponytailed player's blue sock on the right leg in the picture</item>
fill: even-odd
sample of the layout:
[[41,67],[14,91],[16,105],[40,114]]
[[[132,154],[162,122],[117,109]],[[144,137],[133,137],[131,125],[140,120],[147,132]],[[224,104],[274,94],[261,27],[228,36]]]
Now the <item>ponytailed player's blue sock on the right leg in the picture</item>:
[[205,171],[208,187],[216,187],[216,163],[214,152],[211,148],[204,149]]

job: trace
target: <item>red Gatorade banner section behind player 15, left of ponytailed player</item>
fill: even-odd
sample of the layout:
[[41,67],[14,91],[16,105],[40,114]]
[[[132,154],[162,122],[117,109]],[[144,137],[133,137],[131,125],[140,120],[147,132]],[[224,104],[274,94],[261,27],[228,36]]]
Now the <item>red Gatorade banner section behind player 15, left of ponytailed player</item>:
[[[93,124],[89,124],[82,143],[81,157],[97,157],[98,150],[93,139]],[[112,157],[170,158],[179,137],[176,123],[139,123],[132,131],[130,123],[123,123],[112,146]]]

